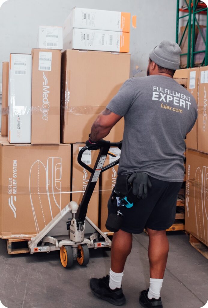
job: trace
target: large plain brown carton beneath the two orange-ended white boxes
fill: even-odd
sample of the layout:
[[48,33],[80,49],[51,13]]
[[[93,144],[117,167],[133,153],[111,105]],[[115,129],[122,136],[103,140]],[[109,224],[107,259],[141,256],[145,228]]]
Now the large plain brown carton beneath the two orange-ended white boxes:
[[[98,114],[129,78],[130,54],[67,50],[61,57],[61,141],[85,142]],[[105,138],[123,138],[121,119]]]

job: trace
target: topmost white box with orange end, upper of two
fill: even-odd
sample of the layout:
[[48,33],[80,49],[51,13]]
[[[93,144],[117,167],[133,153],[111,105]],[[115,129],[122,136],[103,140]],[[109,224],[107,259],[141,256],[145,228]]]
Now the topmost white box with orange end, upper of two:
[[75,7],[65,20],[63,35],[65,38],[73,28],[129,32],[130,18],[125,12]]

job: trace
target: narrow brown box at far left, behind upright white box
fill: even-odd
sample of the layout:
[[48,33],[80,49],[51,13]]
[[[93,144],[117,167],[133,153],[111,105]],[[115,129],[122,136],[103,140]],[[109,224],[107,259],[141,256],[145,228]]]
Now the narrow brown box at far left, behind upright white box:
[[8,136],[9,62],[2,63],[2,136]]

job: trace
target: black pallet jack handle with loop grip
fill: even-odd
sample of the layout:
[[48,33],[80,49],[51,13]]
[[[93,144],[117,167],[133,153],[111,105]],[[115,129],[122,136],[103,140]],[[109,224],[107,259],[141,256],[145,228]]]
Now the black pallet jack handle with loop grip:
[[92,196],[92,193],[94,191],[94,188],[96,186],[96,183],[98,181],[98,178],[100,176],[100,173],[108,170],[109,168],[112,168],[113,166],[115,166],[119,163],[119,159],[117,159],[114,162],[112,162],[111,164],[108,164],[107,166],[103,167],[106,156],[108,154],[114,156],[112,153],[109,152],[109,149],[111,147],[121,148],[121,145],[122,145],[122,141],[120,141],[120,142],[110,142],[110,143],[106,142],[106,144],[102,145],[100,147],[100,152],[98,154],[94,168],[90,168],[87,164],[85,164],[81,160],[83,153],[87,150],[90,150],[93,147],[93,145],[92,145],[92,147],[91,146],[83,147],[80,150],[78,157],[77,157],[77,161],[83,168],[85,168],[86,170],[88,170],[91,173],[91,176],[90,176],[90,179],[88,181],[86,190],[84,192],[84,196],[83,196],[83,198],[80,202],[79,208],[78,208],[77,213],[75,215],[77,225],[81,226],[81,225],[84,224],[84,220],[85,220],[85,217],[86,217],[86,214],[87,214],[88,204],[89,204],[90,198]]

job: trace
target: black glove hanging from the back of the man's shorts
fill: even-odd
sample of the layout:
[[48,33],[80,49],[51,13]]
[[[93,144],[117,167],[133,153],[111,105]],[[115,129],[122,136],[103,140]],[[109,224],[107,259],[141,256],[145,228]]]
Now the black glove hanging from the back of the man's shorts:
[[143,172],[134,172],[128,178],[128,183],[133,184],[133,195],[137,198],[147,198],[147,187],[152,187],[148,175]]

